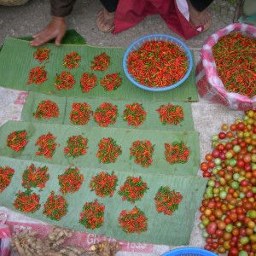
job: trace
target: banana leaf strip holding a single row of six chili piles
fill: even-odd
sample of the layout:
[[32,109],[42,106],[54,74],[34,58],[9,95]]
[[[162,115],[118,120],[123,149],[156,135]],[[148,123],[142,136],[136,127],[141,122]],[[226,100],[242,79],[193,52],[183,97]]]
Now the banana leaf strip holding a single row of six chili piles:
[[[7,146],[7,137],[13,131],[26,130],[27,145],[20,151]],[[56,137],[55,143],[58,147],[52,159],[45,158],[44,155],[36,155],[38,146],[36,142],[41,135],[51,132]],[[82,135],[88,139],[87,154],[80,155],[77,158],[67,157],[64,154],[64,148],[67,147],[67,139],[74,135]],[[104,170],[115,170],[116,172],[142,172],[158,173],[166,175],[196,175],[200,164],[200,148],[198,141],[198,131],[160,131],[160,130],[135,130],[122,128],[99,128],[99,127],[81,127],[74,125],[59,124],[39,124],[23,121],[9,120],[0,127],[0,155],[12,157],[20,160],[35,160],[44,163],[57,165],[76,165],[90,168],[102,168]],[[102,138],[113,138],[121,147],[122,153],[113,163],[102,163],[96,157],[99,150],[98,144]],[[135,141],[148,140],[154,145],[152,155],[153,162],[148,167],[143,167],[130,158],[131,144]],[[189,160],[185,163],[170,164],[165,158],[165,143],[183,142],[189,148]]]

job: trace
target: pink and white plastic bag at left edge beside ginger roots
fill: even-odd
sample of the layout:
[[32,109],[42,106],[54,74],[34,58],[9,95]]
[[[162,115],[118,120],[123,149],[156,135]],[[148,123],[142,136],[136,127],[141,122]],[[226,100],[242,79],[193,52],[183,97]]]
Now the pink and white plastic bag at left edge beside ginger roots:
[[0,255],[9,256],[11,253],[11,231],[9,226],[5,224],[7,214],[0,212]]

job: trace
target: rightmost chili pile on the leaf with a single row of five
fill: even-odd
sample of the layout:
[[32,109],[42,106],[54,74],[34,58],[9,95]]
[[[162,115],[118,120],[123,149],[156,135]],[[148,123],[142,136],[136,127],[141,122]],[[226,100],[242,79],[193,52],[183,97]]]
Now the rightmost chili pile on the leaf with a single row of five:
[[161,105],[156,109],[160,115],[160,122],[163,125],[178,125],[184,119],[183,108],[178,105]]

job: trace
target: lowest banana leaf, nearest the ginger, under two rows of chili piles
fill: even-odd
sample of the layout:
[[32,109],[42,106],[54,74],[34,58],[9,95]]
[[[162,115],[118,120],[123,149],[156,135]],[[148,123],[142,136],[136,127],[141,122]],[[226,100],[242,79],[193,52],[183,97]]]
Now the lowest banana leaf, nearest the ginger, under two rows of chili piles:
[[[64,198],[67,200],[67,215],[56,221],[46,217],[43,214],[44,203],[51,191],[55,191],[55,195],[62,195],[59,191],[60,186],[57,185],[58,176],[65,172],[68,166],[58,166],[51,164],[43,164],[32,160],[14,160],[8,157],[0,157],[2,166],[9,166],[15,170],[12,177],[11,185],[7,187],[1,194],[1,205],[9,207],[17,211],[14,207],[16,193],[25,191],[21,185],[22,173],[27,166],[32,163],[36,167],[47,166],[49,172],[49,180],[44,189],[32,189],[32,192],[40,195],[41,207],[36,212],[25,213],[31,218],[37,218],[49,224],[57,224],[73,230],[86,231],[94,234],[113,237],[120,240],[128,240],[134,242],[147,242],[154,244],[166,245],[186,245],[189,243],[190,233],[194,226],[195,211],[200,206],[201,195],[205,189],[207,179],[201,177],[178,177],[165,176],[158,174],[157,178],[154,174],[137,172],[117,172],[118,183],[112,197],[99,197],[94,191],[90,190],[89,184],[91,177],[96,176],[102,170],[96,168],[79,168],[80,173],[84,175],[84,183],[78,191],[73,194],[67,193]],[[131,203],[130,201],[122,201],[119,195],[119,187],[125,183],[126,177],[143,177],[143,182],[147,183],[148,190],[140,201]],[[179,192],[183,196],[182,201],[178,204],[176,211],[172,215],[165,215],[163,212],[156,212],[154,197],[160,187],[169,186],[170,189]],[[105,206],[104,222],[101,227],[95,230],[86,229],[83,224],[79,223],[79,214],[82,212],[85,202],[95,201]],[[137,207],[144,212],[148,218],[148,230],[137,233],[126,233],[122,230],[118,218],[123,210],[131,211],[133,207]]]

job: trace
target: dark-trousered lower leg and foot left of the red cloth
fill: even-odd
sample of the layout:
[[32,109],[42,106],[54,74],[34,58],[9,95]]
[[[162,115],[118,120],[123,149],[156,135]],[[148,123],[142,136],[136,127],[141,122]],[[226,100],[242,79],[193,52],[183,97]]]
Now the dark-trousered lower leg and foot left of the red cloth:
[[102,32],[111,32],[114,28],[114,14],[119,0],[100,0],[104,9],[98,14],[96,24]]

